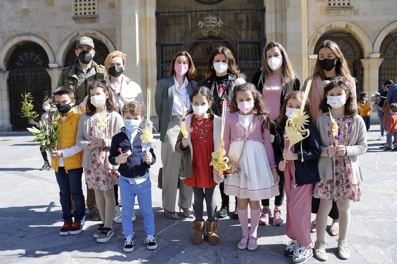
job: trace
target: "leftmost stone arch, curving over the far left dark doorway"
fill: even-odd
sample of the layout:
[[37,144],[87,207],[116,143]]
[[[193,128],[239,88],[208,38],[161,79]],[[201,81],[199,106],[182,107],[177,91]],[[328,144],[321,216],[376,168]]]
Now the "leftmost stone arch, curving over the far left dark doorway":
[[15,47],[15,45],[18,43],[29,41],[39,44],[46,51],[49,64],[55,63],[54,52],[52,51],[50,45],[48,45],[48,43],[44,39],[40,38],[35,34],[23,33],[12,36],[0,48],[0,70],[6,70],[7,61],[9,56],[12,54],[13,47]]

